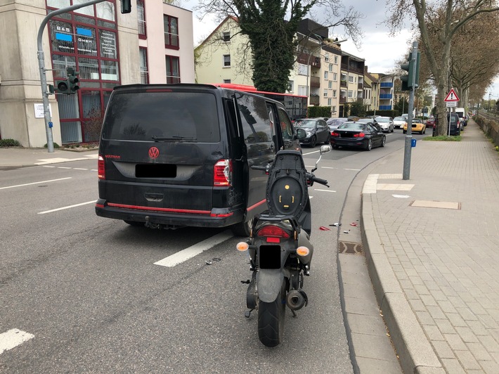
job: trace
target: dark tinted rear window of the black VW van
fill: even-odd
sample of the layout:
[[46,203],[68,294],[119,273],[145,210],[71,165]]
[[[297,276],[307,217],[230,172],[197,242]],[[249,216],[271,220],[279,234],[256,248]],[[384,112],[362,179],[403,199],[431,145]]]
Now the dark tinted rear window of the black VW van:
[[212,93],[115,93],[103,124],[103,138],[135,141],[220,141]]

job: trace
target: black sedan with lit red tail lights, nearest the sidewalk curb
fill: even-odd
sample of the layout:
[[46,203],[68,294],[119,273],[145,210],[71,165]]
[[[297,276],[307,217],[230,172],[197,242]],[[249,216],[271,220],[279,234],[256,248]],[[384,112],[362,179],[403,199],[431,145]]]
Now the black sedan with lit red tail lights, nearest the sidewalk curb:
[[356,147],[371,150],[384,147],[387,136],[372,122],[345,122],[331,134],[332,148]]

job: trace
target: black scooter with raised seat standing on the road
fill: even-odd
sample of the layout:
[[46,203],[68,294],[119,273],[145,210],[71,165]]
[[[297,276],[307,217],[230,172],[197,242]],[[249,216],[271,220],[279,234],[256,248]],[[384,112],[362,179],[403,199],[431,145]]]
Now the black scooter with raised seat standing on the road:
[[[331,146],[320,147],[320,157]],[[283,340],[285,307],[295,311],[308,304],[304,292],[304,276],[310,275],[313,255],[311,205],[308,187],[314,182],[328,186],[328,181],[306,172],[302,154],[296,150],[280,150],[264,170],[268,176],[266,200],[268,214],[257,215],[250,238],[238,243],[238,250],[250,257],[252,279],[248,283],[246,304],[250,317],[258,310],[258,336],[267,347]],[[329,187],[329,186],[328,186]]]

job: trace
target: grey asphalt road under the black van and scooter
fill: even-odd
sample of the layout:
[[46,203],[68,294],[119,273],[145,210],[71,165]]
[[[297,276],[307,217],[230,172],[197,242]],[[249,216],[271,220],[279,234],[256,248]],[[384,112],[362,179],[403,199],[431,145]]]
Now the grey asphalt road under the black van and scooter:
[[[298,318],[287,310],[285,341],[273,349],[258,340],[257,314],[244,316],[240,281],[251,273],[230,231],[159,231],[97,217],[95,161],[0,172],[0,334],[29,334],[8,349],[0,339],[0,371],[352,373],[337,233],[319,227],[338,221],[356,174],[403,147],[403,138],[396,130],[384,148],[323,156],[316,176],[330,188],[309,191],[316,248],[304,285],[309,306]],[[307,167],[318,148],[304,148]],[[205,242],[217,235],[227,238]],[[205,251],[175,266],[155,264],[194,245]]]

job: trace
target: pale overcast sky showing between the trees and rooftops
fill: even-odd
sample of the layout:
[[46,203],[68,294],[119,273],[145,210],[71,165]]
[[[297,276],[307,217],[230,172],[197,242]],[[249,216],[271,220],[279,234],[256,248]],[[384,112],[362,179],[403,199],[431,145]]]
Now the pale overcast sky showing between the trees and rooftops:
[[[352,41],[345,41],[342,43],[342,50],[365,59],[365,65],[368,66],[369,72],[387,73],[396,67],[396,61],[401,60],[406,52],[412,48],[413,41],[415,41],[413,34],[409,30],[402,30],[394,37],[389,36],[389,27],[386,25],[386,1],[384,0],[356,0],[345,2],[345,4],[354,6],[358,12],[365,16],[359,20],[364,38],[359,49]],[[181,1],[182,8],[192,10],[195,5],[197,5],[197,0]],[[309,18],[325,25],[328,20],[320,19],[325,17],[323,14],[324,12],[316,10]],[[200,44],[218,25],[211,15],[205,15],[202,21],[197,20],[197,15],[194,13],[193,16],[195,45]],[[329,32],[330,37],[344,39],[343,30],[330,28]],[[484,98],[488,99],[489,92],[491,98],[499,99],[499,78],[495,79],[495,83],[488,89]]]

